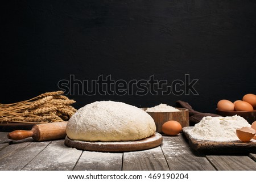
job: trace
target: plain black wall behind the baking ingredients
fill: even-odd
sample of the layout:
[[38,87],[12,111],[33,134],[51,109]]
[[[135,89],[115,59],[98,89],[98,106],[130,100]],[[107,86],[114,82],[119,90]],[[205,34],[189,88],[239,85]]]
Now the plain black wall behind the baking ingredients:
[[[76,79],[199,79],[199,95],[69,95],[138,107],[184,100],[214,112],[220,99],[256,94],[256,1],[8,1],[1,7],[0,103]],[[66,94],[68,94],[66,92]]]

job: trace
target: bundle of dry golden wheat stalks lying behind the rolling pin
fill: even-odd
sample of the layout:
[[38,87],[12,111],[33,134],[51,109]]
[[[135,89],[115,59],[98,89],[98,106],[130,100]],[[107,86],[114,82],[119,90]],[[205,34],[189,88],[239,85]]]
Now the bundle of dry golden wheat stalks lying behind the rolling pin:
[[13,104],[0,104],[0,122],[37,123],[68,121],[76,112],[75,100],[63,91],[46,92],[35,98]]

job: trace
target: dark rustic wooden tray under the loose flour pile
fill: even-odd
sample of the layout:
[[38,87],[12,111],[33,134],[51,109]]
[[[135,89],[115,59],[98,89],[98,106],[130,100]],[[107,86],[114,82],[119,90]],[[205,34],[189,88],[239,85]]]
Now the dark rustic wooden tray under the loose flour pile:
[[204,141],[192,138],[188,131],[191,130],[193,126],[184,127],[183,134],[188,138],[189,145],[192,149],[199,151],[203,154],[212,155],[245,155],[249,153],[256,153],[256,140],[252,139],[250,142],[214,142],[214,141]]

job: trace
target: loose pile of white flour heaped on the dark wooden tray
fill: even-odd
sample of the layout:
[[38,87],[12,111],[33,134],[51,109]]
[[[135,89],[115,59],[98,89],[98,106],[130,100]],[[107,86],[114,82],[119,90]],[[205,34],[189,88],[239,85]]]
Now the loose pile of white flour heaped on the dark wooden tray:
[[236,129],[251,126],[241,116],[204,117],[199,123],[188,131],[192,138],[209,141],[237,141]]

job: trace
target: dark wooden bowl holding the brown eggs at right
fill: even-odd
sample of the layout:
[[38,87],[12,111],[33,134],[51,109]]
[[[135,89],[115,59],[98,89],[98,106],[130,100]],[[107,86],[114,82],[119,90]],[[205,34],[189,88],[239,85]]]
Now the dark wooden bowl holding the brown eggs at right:
[[216,109],[216,113],[217,115],[221,115],[224,117],[238,115],[245,118],[245,120],[247,120],[249,124],[252,124],[256,120],[256,110],[254,111],[220,111]]

